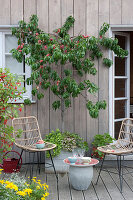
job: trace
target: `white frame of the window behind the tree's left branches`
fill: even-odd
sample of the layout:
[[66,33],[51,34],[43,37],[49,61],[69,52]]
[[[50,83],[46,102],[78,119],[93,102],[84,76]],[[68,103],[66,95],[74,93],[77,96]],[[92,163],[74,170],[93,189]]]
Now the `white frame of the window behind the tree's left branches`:
[[[5,25],[5,26],[0,26],[0,67],[3,69],[6,67],[5,66],[5,55],[11,55],[11,53],[5,53],[5,35],[12,35],[11,28],[12,27],[17,27],[17,26],[10,26],[10,25]],[[31,67],[25,65],[25,73],[21,73],[18,75],[25,75],[25,80],[31,76]],[[32,101],[32,85],[27,85],[25,82],[25,89],[26,92],[23,94],[23,99],[17,99],[15,103],[23,103],[24,99],[30,99]],[[34,101],[32,101],[34,102]],[[14,102],[12,102],[14,103]]]

